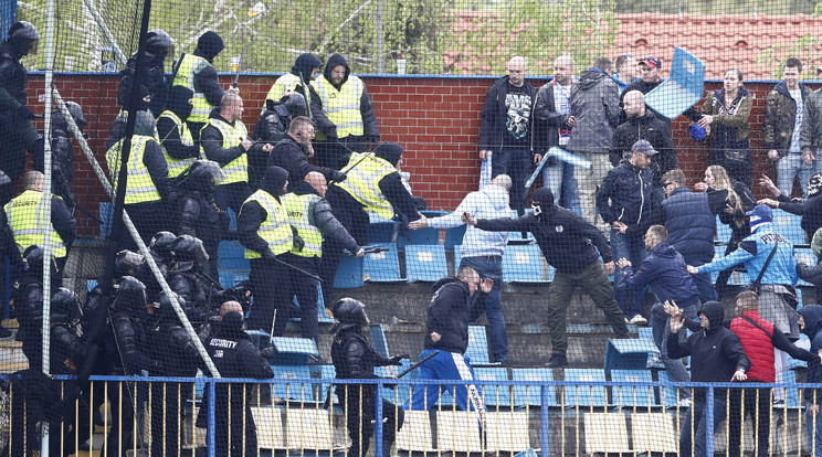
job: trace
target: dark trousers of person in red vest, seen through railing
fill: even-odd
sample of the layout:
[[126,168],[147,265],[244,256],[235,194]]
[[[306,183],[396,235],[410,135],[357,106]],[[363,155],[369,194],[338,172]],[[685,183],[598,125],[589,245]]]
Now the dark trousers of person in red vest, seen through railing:
[[[760,382],[760,381],[756,381]],[[728,456],[739,457],[741,455],[740,437],[745,418],[750,416],[756,426],[753,427],[757,440],[755,456],[768,455],[770,443],[771,423],[771,390],[761,389],[733,389],[728,405]]]

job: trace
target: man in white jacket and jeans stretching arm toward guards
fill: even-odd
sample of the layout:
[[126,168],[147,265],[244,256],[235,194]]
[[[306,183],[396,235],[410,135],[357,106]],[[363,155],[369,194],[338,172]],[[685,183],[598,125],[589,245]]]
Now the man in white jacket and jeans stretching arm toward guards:
[[[474,214],[477,219],[510,217],[508,192],[512,180],[507,174],[497,174],[489,185],[477,192],[465,195],[453,213],[441,217],[420,219],[409,223],[411,230],[433,227],[452,228],[463,225],[464,213]],[[462,244],[462,259],[456,269],[468,266],[479,274],[479,278],[494,280],[494,287],[485,299],[485,315],[491,326],[491,352],[496,362],[508,364],[508,336],[505,332],[505,317],[500,295],[503,291],[503,254],[508,244],[507,232],[485,232],[468,225]]]

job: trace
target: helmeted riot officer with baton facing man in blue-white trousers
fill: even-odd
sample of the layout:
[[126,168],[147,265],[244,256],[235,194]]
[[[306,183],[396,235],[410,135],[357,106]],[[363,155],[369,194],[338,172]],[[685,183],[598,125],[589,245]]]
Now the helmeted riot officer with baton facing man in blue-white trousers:
[[[338,380],[375,379],[375,366],[399,365],[400,360],[408,355],[397,355],[386,359],[377,353],[362,336],[368,326],[366,306],[354,298],[342,298],[334,304],[334,317],[339,321],[339,328],[331,343],[331,360]],[[337,398],[346,411],[346,425],[351,447],[348,457],[360,457],[368,454],[368,447],[373,433],[376,416],[373,384],[339,384]],[[390,456],[396,432],[402,428],[404,413],[393,403],[382,401],[382,414],[387,421],[382,424],[382,455]],[[361,438],[361,440],[360,440]]]

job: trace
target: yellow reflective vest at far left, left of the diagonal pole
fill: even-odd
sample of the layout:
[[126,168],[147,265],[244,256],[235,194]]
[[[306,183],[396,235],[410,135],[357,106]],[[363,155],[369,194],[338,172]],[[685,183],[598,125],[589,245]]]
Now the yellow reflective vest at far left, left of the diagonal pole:
[[[50,219],[45,219],[45,199],[48,196],[40,191],[27,190],[6,204],[6,214],[9,226],[14,235],[20,253],[29,246],[45,247],[45,231],[51,231],[51,248],[54,257],[62,258],[66,255],[63,237],[54,231]],[[48,225],[46,225],[48,224]]]

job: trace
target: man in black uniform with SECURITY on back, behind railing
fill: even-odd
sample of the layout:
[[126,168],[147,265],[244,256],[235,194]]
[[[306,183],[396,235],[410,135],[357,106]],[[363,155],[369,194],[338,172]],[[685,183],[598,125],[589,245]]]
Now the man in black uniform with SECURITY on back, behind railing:
[[[209,339],[205,349],[223,378],[274,378],[268,362],[243,331],[239,312],[223,316],[219,330]],[[217,384],[214,417],[219,432],[214,435],[214,443],[218,456],[257,455],[256,425],[249,405],[251,387],[249,384]],[[208,405],[208,397],[203,398],[203,405]],[[200,418],[207,414],[207,407],[200,410]]]

